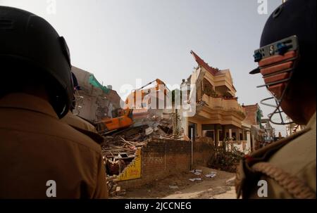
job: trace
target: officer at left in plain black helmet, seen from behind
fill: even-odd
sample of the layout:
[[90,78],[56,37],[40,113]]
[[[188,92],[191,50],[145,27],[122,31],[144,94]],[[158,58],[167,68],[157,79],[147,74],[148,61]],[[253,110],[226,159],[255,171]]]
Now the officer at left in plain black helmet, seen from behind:
[[0,6],[0,198],[107,198],[100,146],[65,122],[73,101],[66,41]]

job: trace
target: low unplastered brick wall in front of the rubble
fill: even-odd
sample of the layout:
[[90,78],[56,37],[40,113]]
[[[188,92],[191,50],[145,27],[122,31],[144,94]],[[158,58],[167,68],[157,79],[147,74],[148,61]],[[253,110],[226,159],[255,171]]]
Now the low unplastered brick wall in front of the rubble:
[[[193,145],[194,167],[206,166],[212,148],[206,143]],[[154,140],[144,146],[142,155],[142,178],[120,182],[124,188],[135,188],[171,174],[188,172],[192,164],[192,143],[190,141]]]

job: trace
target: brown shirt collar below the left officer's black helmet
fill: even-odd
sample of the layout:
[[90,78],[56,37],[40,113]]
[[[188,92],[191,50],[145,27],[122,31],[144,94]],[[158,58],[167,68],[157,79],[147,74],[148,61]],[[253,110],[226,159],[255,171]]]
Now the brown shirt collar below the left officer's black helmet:
[[30,110],[58,118],[49,102],[26,93],[11,93],[4,96],[0,99],[0,108]]

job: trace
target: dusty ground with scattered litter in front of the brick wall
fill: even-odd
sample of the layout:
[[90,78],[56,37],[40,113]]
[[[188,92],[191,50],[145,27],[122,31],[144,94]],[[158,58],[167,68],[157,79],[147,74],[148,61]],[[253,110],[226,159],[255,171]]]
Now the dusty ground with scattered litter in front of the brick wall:
[[[128,190],[123,197],[115,199],[235,199],[235,188],[232,178],[235,174],[221,172],[206,167],[197,167],[203,170],[201,176],[190,172],[169,176],[166,179],[156,180],[141,188]],[[213,179],[206,178],[206,174],[217,172]],[[189,181],[201,177],[202,181]],[[231,179],[231,181],[229,181]]]

